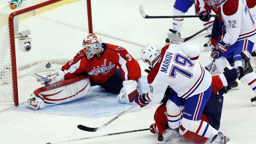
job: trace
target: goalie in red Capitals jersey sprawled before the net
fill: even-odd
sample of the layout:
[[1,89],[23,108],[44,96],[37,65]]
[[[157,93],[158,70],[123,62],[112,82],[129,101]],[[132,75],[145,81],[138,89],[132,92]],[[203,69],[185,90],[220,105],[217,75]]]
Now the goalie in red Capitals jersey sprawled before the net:
[[141,69],[125,48],[101,43],[101,38],[91,33],[74,59],[42,77],[45,79],[37,81],[45,86],[35,90],[25,102],[33,109],[86,96],[95,85],[118,94],[117,101],[131,103],[140,92]]

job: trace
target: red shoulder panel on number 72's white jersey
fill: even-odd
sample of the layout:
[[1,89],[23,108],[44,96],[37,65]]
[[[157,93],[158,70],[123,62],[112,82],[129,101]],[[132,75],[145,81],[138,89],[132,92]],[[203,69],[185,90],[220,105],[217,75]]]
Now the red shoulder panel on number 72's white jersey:
[[226,0],[223,5],[223,12],[226,16],[234,15],[238,10],[239,0]]

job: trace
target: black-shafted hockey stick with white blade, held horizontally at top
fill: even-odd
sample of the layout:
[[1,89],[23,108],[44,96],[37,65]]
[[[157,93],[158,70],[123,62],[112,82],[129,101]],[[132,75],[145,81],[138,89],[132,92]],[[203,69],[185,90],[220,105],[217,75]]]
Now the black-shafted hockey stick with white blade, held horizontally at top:
[[[187,15],[187,16],[148,16],[144,11],[143,5],[139,6],[139,13],[143,18],[187,18],[187,17],[199,17],[199,15]],[[221,15],[211,15],[212,17],[219,17]]]

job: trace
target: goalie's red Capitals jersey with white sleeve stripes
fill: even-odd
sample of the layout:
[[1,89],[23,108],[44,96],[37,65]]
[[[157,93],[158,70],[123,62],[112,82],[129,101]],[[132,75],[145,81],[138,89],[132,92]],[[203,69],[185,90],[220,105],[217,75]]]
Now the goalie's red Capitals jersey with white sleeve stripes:
[[65,79],[85,74],[89,76],[90,81],[103,83],[120,69],[123,80],[138,81],[141,76],[139,63],[126,49],[109,43],[102,43],[102,48],[102,53],[91,59],[87,59],[83,49],[80,50],[74,59],[62,67]]

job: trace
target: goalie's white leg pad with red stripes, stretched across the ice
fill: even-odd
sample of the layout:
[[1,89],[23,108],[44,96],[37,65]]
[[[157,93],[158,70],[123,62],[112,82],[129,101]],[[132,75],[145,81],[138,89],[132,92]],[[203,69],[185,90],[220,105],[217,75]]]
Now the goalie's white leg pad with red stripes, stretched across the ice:
[[31,94],[25,105],[37,110],[73,101],[90,92],[91,84],[88,76],[81,75],[38,88]]

